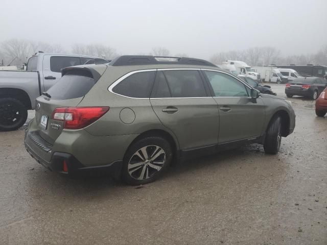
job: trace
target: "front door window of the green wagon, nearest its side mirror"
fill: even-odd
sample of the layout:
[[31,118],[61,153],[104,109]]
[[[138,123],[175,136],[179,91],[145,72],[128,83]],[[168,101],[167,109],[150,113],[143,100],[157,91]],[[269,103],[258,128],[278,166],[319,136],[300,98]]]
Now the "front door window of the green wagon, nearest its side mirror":
[[248,97],[243,83],[237,79],[216,71],[204,71],[217,97]]

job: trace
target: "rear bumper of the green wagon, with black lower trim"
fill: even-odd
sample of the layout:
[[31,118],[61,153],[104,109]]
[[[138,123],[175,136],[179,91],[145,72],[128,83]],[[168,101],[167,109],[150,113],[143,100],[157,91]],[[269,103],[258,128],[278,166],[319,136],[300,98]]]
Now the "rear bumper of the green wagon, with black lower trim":
[[[92,170],[108,171],[119,177],[122,159],[129,144],[138,135],[94,136],[85,130],[63,130],[53,144],[40,135],[36,120],[25,131],[25,148],[42,166],[63,174]],[[63,171],[63,161],[68,171]]]

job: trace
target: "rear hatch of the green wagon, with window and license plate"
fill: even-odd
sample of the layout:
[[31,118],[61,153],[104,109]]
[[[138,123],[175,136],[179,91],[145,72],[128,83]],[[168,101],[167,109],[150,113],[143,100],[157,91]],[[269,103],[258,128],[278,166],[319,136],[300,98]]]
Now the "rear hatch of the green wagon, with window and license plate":
[[78,106],[84,95],[101,77],[94,69],[85,67],[65,68],[62,75],[62,78],[54,86],[37,98],[35,105],[38,129],[36,133],[51,144],[59,137],[64,128],[63,121],[53,119],[54,110]]

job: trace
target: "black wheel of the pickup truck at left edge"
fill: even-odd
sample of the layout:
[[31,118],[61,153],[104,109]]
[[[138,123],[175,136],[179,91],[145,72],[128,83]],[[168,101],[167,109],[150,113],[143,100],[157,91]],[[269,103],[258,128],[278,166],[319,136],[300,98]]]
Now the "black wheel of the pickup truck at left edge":
[[27,109],[13,98],[0,99],[0,131],[19,129],[27,119]]

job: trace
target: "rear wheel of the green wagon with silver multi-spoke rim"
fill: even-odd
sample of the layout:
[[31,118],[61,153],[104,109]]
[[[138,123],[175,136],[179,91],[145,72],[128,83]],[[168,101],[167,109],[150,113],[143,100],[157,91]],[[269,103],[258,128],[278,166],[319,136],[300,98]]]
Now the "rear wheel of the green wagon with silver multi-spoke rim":
[[133,143],[127,150],[122,168],[122,179],[130,185],[147,184],[158,179],[172,161],[169,142],[150,136]]

